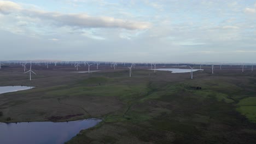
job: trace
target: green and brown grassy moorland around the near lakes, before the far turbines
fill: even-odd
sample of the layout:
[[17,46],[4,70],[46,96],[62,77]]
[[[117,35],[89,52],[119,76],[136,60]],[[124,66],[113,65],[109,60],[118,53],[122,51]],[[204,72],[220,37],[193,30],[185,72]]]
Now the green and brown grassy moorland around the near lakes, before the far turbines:
[[0,121],[103,119],[67,143],[256,143],[253,73],[197,71],[192,80],[150,70],[133,70],[132,77],[128,70],[38,73],[31,82],[15,70],[10,79],[0,73],[2,85],[36,86],[0,94]]

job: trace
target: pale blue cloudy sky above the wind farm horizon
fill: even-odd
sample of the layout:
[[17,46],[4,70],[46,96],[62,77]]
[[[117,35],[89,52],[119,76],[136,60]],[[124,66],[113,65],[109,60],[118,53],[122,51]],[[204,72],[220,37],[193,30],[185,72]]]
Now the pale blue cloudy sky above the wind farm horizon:
[[0,0],[0,61],[256,63],[256,1]]

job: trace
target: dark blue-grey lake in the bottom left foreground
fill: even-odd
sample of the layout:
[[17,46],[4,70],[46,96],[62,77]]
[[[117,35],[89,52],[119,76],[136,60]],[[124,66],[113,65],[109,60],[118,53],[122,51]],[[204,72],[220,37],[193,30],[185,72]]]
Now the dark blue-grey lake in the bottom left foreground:
[[101,119],[85,119],[72,122],[22,122],[0,123],[1,144],[59,144],[65,143],[80,130],[94,127]]

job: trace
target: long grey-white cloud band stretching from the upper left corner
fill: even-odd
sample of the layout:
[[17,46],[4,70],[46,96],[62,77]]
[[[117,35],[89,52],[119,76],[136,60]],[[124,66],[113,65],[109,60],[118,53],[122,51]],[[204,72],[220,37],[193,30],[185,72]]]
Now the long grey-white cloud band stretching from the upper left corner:
[[21,5],[10,1],[0,1],[0,13],[19,13],[22,16],[36,18],[41,21],[50,21],[52,25],[57,26],[71,26],[78,28],[124,28],[129,30],[150,28],[149,22],[129,21],[107,16],[89,16],[84,13],[64,14],[44,10],[24,9]]

